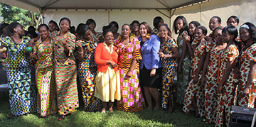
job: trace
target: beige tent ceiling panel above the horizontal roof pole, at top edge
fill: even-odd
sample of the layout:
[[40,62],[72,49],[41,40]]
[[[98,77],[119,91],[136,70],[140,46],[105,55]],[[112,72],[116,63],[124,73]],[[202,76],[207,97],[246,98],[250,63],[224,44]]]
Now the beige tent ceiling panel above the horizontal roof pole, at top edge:
[[[4,0],[0,0],[4,1]],[[174,9],[203,0],[13,0],[41,9]],[[3,2],[4,3],[4,2]]]

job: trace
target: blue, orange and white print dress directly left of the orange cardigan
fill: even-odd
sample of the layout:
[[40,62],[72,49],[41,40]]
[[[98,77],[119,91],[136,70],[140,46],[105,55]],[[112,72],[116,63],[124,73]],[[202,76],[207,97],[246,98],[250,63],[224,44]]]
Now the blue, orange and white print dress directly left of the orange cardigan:
[[94,60],[96,41],[81,41],[84,58],[78,65],[79,79],[82,88],[82,101],[85,111],[100,111],[102,101],[94,96],[97,65]]

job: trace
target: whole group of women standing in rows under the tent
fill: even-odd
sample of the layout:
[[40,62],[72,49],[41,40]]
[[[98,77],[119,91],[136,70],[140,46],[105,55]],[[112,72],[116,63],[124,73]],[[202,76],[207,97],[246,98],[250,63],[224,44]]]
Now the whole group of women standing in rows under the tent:
[[244,23],[238,35],[238,23],[230,16],[223,28],[213,16],[207,35],[198,21],[178,16],[176,39],[159,16],[153,30],[133,21],[122,25],[121,34],[115,21],[96,32],[92,19],[70,33],[70,20],[61,18],[60,28],[55,21],[38,26],[39,38],[24,36],[21,24],[11,23],[1,28],[0,47],[6,48],[1,58],[6,59],[11,116],[58,112],[61,121],[78,108],[80,85],[85,111],[113,112],[117,100],[121,111],[142,111],[146,101],[150,110],[172,113],[176,101],[185,113],[193,106],[196,117],[229,126],[232,105],[255,104],[256,27]]

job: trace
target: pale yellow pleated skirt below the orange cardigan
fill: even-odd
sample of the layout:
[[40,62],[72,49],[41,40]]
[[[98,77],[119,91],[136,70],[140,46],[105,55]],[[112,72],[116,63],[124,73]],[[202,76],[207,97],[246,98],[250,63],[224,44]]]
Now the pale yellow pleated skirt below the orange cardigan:
[[121,99],[119,70],[114,72],[114,69],[109,66],[106,73],[97,72],[95,96],[104,102]]

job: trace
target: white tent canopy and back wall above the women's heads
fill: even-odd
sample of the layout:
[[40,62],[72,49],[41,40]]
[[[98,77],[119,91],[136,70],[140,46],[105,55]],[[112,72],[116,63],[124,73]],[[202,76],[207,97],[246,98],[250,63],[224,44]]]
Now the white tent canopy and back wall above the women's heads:
[[[208,28],[212,16],[220,16],[223,26],[229,16],[238,16],[240,25],[256,21],[255,0],[0,0],[1,3],[42,13],[43,23],[68,17],[72,26],[85,23],[88,18],[96,21],[96,31],[110,21],[119,27],[133,20],[146,21],[153,26],[153,19],[161,16],[172,29],[174,19],[183,15],[187,21],[199,21]],[[119,28],[120,32],[120,28]],[[210,33],[208,29],[208,33]]]

